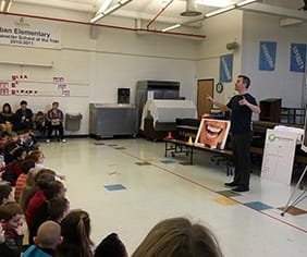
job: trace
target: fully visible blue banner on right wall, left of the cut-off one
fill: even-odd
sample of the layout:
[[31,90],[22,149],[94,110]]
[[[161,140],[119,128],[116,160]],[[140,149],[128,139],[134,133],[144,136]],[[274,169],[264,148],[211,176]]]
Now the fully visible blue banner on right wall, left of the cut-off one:
[[260,41],[259,44],[259,71],[274,71],[277,60],[277,42]]

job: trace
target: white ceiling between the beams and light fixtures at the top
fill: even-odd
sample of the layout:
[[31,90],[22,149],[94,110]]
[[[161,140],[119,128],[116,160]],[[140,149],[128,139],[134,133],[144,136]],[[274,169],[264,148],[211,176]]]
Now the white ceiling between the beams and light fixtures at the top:
[[[103,0],[13,0],[14,3],[25,3],[25,4],[39,4],[49,5],[61,9],[77,10],[84,12],[93,12],[93,16],[98,11],[101,2]],[[119,0],[112,0],[112,4],[116,3]],[[134,19],[151,20],[154,19],[171,0],[133,0],[126,5],[116,10],[112,15],[123,15]],[[242,0],[230,0],[233,3],[240,2]],[[303,0],[262,0],[262,3],[271,4],[274,7],[283,7],[287,9],[297,10],[304,5]],[[183,17],[180,13],[184,12],[186,9],[186,0],[173,0],[172,3],[163,11],[159,16],[160,21],[163,22],[188,22],[192,17]],[[197,5],[197,11],[202,12],[202,14],[208,13],[216,8],[208,5]]]

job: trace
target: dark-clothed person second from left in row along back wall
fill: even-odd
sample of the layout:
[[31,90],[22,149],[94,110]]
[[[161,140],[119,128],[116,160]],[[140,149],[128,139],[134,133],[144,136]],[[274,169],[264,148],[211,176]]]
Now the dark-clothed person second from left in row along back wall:
[[33,128],[33,112],[27,108],[25,100],[21,101],[21,108],[15,113],[14,131],[32,130]]

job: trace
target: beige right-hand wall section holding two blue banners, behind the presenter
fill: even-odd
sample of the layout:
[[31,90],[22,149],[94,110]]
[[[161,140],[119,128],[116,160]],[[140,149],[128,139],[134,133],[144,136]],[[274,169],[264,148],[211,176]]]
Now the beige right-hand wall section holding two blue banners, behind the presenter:
[[[290,72],[292,42],[307,44],[307,24],[280,27],[280,19],[244,13],[242,71],[251,75],[250,90],[258,99],[282,98],[283,107],[300,107],[304,74]],[[274,71],[259,71],[259,41],[277,42]]]

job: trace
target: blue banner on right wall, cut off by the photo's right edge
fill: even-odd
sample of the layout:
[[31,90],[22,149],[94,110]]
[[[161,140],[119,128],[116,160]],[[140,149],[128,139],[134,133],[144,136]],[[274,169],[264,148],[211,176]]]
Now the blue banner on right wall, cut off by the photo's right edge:
[[306,44],[291,44],[290,71],[305,72]]

